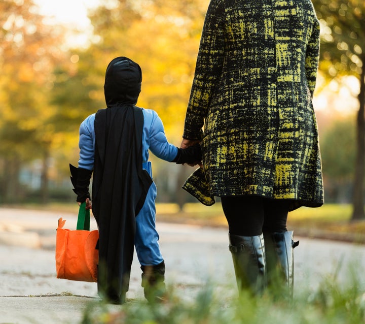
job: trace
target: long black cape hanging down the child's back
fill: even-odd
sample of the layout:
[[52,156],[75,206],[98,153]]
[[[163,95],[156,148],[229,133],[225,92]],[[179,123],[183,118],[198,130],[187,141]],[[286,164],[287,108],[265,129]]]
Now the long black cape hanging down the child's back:
[[118,299],[128,291],[135,217],[152,179],[142,169],[142,110],[101,109],[95,116],[92,211],[99,226],[98,293]]

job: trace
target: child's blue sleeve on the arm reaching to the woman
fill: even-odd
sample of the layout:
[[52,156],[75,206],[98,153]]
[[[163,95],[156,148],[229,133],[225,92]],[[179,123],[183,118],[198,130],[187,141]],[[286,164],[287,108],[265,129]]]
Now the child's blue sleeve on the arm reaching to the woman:
[[177,147],[167,141],[162,120],[156,112],[150,128],[150,150],[157,157],[169,162],[177,155]]

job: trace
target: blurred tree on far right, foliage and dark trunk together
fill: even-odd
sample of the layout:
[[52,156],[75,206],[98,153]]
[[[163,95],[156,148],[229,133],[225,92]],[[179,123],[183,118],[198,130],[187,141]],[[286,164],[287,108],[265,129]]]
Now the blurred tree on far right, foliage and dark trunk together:
[[365,2],[312,0],[321,22],[320,70],[329,78],[354,75],[360,81],[352,220],[365,219]]

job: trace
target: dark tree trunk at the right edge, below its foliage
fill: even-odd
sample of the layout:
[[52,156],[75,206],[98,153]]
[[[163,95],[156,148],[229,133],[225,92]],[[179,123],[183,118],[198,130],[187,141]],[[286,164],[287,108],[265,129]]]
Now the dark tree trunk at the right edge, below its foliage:
[[[365,57],[362,58],[365,63]],[[360,108],[357,113],[357,137],[356,137],[356,160],[355,178],[353,184],[353,211],[351,220],[365,219],[363,187],[364,187],[364,164],[365,164],[365,68],[362,68],[360,77],[360,93],[358,95]]]

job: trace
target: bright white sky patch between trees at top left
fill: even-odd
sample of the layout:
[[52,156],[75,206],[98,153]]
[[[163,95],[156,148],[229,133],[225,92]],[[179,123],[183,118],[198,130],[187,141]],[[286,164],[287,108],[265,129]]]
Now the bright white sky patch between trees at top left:
[[69,36],[70,46],[84,45],[91,35],[88,9],[97,7],[100,0],[33,0],[39,6],[40,14],[50,17],[51,22],[77,29],[79,35]]

